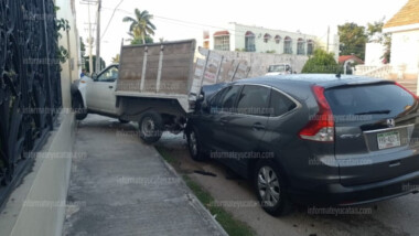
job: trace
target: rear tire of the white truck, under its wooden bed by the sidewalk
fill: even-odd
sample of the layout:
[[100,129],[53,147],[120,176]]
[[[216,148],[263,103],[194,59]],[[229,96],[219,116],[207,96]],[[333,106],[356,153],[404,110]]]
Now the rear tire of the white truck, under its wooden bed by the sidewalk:
[[138,127],[140,129],[140,138],[146,143],[153,143],[159,141],[163,133],[163,119],[160,114],[148,111],[142,115]]

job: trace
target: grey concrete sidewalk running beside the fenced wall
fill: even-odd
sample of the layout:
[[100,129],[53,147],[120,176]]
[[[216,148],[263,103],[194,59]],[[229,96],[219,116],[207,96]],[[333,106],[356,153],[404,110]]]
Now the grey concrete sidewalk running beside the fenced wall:
[[226,235],[132,125],[78,125],[63,235]]

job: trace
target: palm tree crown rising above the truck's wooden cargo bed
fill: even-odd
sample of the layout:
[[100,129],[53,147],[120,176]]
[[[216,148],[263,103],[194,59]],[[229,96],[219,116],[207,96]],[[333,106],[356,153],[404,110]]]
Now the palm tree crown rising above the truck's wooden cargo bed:
[[140,11],[136,8],[135,10],[136,19],[131,17],[125,17],[122,19],[123,22],[131,22],[129,26],[129,35],[133,37],[133,40],[141,37],[142,43],[146,44],[147,35],[154,35],[155,26],[151,23],[153,15],[149,13],[149,11]]

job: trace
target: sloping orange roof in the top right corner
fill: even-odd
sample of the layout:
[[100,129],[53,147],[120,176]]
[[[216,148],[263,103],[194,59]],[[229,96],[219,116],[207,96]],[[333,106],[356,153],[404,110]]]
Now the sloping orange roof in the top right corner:
[[384,28],[402,26],[419,23],[419,0],[409,0]]

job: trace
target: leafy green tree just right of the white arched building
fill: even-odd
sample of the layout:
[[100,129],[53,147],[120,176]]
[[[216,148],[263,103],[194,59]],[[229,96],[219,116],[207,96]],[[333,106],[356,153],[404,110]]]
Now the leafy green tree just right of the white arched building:
[[365,60],[365,44],[368,37],[365,28],[356,23],[345,23],[339,25],[339,36],[341,40],[341,55],[356,55]]

